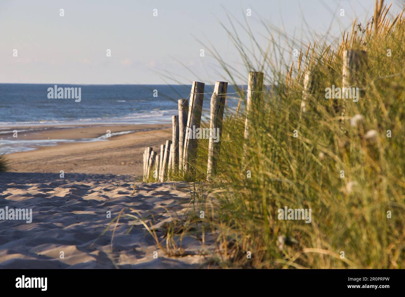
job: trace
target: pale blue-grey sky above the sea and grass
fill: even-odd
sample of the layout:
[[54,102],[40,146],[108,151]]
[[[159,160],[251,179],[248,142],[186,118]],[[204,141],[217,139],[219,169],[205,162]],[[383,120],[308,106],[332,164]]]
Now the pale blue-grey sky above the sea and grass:
[[[394,1],[391,14],[403,4]],[[278,30],[304,44],[319,36],[332,40],[351,29],[354,19],[366,23],[374,5],[374,0],[1,0],[0,83],[213,83],[226,73],[209,48],[244,71],[225,29],[232,28],[227,15],[243,43],[251,43],[244,31],[248,24],[266,48],[269,32]],[[299,42],[288,46],[301,48]]]

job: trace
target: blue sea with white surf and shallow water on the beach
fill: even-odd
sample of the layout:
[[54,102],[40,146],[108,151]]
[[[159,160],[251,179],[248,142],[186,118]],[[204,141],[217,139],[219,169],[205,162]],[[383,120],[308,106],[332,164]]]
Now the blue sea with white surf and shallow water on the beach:
[[[77,102],[75,98],[52,98],[57,96],[48,89],[54,86],[0,84],[0,153],[32,150],[40,145],[64,141],[12,138],[10,133],[14,127],[27,127],[26,130],[19,129],[19,133],[24,133],[45,125],[171,123],[171,117],[178,114],[177,101],[188,98],[191,91],[191,85],[57,84],[57,88],[81,88],[80,101]],[[213,88],[213,85],[206,85],[204,93],[213,92]],[[236,89],[228,86],[228,93],[234,92]],[[210,101],[211,94],[204,95],[202,120],[209,120]],[[226,112],[235,110],[238,101],[237,94],[228,95]],[[77,141],[94,140],[102,139]]]

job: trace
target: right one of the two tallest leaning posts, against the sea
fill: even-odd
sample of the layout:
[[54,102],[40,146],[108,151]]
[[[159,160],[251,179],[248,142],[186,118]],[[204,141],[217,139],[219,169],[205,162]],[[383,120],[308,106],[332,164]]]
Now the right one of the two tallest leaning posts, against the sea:
[[214,92],[211,97],[211,120],[209,123],[209,144],[207,181],[215,175],[217,158],[221,151],[222,121],[224,120],[224,108],[228,82],[215,82]]

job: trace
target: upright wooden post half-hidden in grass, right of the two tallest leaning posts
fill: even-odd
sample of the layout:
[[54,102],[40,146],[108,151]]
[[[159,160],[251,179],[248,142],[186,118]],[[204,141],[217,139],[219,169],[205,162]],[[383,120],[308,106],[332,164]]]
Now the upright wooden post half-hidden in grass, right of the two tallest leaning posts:
[[249,72],[249,80],[247,82],[247,104],[246,104],[246,120],[245,120],[245,139],[249,139],[249,134],[252,125],[252,110],[260,108],[263,89],[263,72]]

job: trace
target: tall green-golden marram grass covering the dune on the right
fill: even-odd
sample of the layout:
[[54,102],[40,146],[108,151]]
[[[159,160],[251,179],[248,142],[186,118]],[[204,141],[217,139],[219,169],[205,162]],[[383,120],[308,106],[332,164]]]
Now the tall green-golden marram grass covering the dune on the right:
[[[272,51],[259,48],[262,63],[254,67],[245,45],[228,32],[241,51],[246,76],[264,72],[272,93],[262,93],[260,107],[249,116],[249,142],[243,139],[241,111],[225,119],[216,179],[201,184],[198,205],[207,215],[194,221],[215,236],[212,263],[405,268],[405,19],[401,14],[389,20],[386,11],[377,13],[377,28],[374,22],[354,23],[339,44],[310,44],[298,65],[275,66]],[[325,99],[325,88],[341,86],[346,49],[367,51],[368,69],[359,101],[347,99],[342,117],[336,101]],[[230,82],[239,79],[223,66]],[[313,70],[314,83],[300,118],[306,69]],[[207,146],[207,140],[199,141],[193,175],[171,180],[205,181]],[[204,192],[215,197],[209,206]],[[285,206],[311,209],[311,223],[277,219]]]

